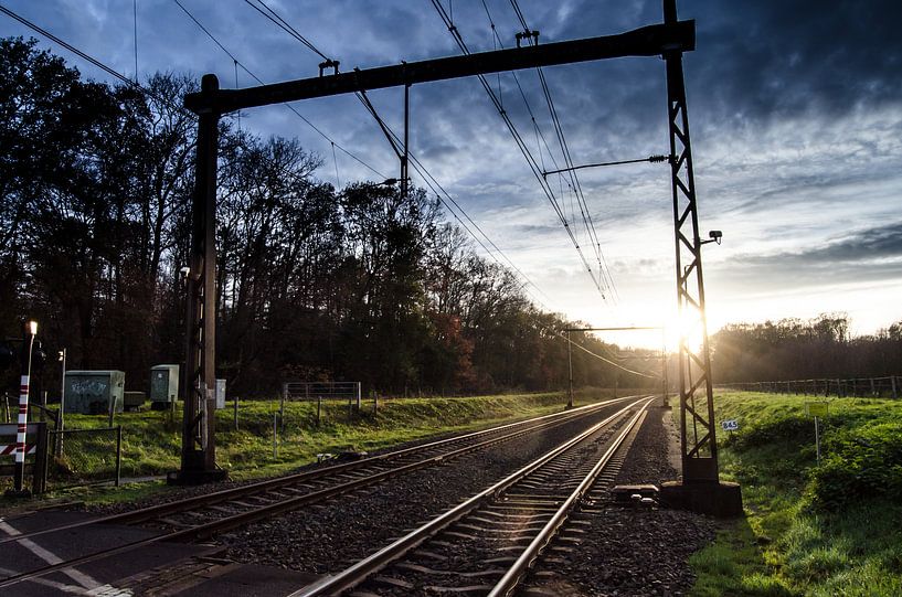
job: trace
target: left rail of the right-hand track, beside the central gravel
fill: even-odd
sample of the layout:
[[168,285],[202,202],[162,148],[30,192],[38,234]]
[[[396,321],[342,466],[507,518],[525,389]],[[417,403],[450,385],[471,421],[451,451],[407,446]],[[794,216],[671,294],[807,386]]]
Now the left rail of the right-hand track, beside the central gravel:
[[592,427],[581,433],[580,435],[564,441],[556,448],[553,448],[552,450],[545,452],[543,456],[537,458],[527,466],[505,477],[502,480],[492,484],[488,489],[461,502],[452,510],[448,510],[444,514],[427,522],[423,526],[415,529],[414,531],[411,531],[403,537],[396,540],[392,544],[383,547],[382,550],[370,555],[369,557],[361,559],[357,564],[346,568],[344,571],[336,575],[327,576],[311,585],[308,585],[307,587],[304,587],[290,594],[289,597],[316,597],[320,595],[335,595],[343,590],[353,588],[358,584],[362,583],[367,577],[369,577],[376,571],[383,568],[392,561],[397,559],[399,557],[403,556],[411,550],[415,548],[416,546],[418,546],[421,543],[423,543],[425,540],[429,539],[437,532],[447,527],[452,523],[460,520],[468,513],[476,510],[478,507],[482,505],[485,502],[498,497],[503,490],[517,483],[529,473],[535,471],[537,469],[541,468],[542,466],[553,460],[561,454],[567,451],[573,446],[582,443],[587,437],[592,436],[593,434],[597,433],[604,427],[611,425],[614,420],[619,419],[627,411],[635,407],[644,399],[650,402],[652,398],[640,398],[627,405],[626,407],[605,418],[601,423],[593,425]]

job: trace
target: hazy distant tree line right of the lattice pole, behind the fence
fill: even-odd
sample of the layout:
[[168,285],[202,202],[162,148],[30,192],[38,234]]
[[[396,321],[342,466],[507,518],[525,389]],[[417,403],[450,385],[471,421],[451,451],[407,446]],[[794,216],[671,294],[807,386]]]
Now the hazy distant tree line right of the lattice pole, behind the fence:
[[855,338],[845,313],[732,323],[711,337],[711,362],[720,383],[898,375],[902,321]]

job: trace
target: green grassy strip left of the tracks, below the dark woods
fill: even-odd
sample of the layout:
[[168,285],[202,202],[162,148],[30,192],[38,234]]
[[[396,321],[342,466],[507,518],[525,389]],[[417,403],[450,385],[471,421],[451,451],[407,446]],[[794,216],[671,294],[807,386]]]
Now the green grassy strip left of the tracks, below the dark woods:
[[[599,392],[581,391],[576,406],[602,398]],[[317,425],[316,403],[287,403],[284,422],[278,424],[277,455],[273,451],[273,418],[278,401],[241,402],[237,430],[233,403],[216,413],[216,461],[233,479],[248,479],[287,472],[315,461],[318,454],[343,450],[375,450],[425,437],[491,426],[502,422],[560,412],[566,404],[562,393],[510,394],[459,398],[399,398],[363,401],[361,412],[349,418],[347,402],[325,402]],[[181,407],[181,404],[179,404]],[[66,428],[105,427],[105,416],[66,415]],[[124,478],[163,475],[179,467],[181,415],[144,411],[117,414],[123,425]],[[71,440],[66,440],[71,441]],[[74,440],[72,440],[74,444]],[[67,451],[75,448],[68,446]],[[72,468],[107,468],[109,448],[85,448],[72,452]],[[157,483],[161,486],[162,483]],[[153,492],[153,487],[115,492],[77,490],[82,499],[132,499]],[[70,492],[72,493],[72,492]],[[52,495],[52,494],[51,494]]]

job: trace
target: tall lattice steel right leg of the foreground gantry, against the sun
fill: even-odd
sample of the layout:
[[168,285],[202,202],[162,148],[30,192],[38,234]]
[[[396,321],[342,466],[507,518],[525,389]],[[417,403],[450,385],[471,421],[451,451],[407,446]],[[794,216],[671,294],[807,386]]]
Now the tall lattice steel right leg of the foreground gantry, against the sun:
[[[664,0],[665,24],[677,22],[676,0]],[[677,303],[680,317],[691,321],[701,347],[680,339],[680,446],[682,475],[687,483],[718,481],[718,449],[714,437],[714,403],[708,324],[704,313],[704,280],[701,267],[702,242],[696,202],[692,146],[683,83],[682,51],[664,52],[667,66],[667,107],[670,132],[670,172],[676,235]],[[694,338],[693,338],[694,340]],[[694,382],[692,381],[694,380]],[[687,426],[698,433],[688,437]]]

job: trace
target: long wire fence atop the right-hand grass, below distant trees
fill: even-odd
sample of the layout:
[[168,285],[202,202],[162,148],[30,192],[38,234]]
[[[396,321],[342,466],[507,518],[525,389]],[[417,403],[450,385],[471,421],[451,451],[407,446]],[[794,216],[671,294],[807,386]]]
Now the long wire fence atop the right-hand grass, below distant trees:
[[862,398],[898,398],[900,393],[899,375],[885,377],[817,379],[788,380],[775,382],[744,382],[718,384],[718,387],[742,390],[746,392],[766,392],[772,394],[805,394],[811,396],[839,396]]

